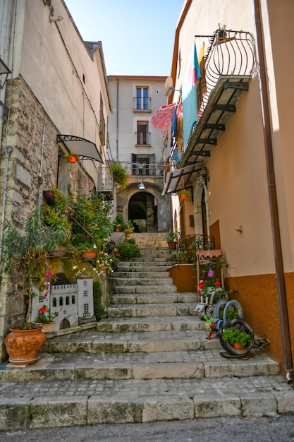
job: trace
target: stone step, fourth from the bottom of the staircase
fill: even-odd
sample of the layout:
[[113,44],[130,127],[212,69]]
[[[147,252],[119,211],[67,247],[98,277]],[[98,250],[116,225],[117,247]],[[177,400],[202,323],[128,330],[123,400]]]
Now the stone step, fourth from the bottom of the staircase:
[[97,323],[101,332],[158,332],[172,330],[204,330],[205,323],[197,316],[146,316],[139,318],[107,318]]

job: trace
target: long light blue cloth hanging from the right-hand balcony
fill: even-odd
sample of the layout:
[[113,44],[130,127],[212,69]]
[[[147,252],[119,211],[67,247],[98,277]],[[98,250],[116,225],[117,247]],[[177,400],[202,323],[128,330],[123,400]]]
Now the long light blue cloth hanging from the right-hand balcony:
[[184,135],[185,149],[187,148],[193,126],[198,121],[197,81],[199,79],[200,79],[200,68],[198,64],[196,44],[194,42],[192,57],[185,72],[185,77],[182,86],[183,135]]

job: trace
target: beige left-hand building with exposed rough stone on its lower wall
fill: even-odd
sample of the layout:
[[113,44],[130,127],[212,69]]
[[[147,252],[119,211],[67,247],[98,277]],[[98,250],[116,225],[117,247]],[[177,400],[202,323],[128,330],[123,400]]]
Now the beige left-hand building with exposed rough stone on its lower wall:
[[[64,1],[4,0],[0,18],[1,245],[4,220],[21,231],[44,190],[97,189],[111,98],[102,43],[82,40]],[[23,317],[21,285],[4,277],[0,306],[2,340]]]

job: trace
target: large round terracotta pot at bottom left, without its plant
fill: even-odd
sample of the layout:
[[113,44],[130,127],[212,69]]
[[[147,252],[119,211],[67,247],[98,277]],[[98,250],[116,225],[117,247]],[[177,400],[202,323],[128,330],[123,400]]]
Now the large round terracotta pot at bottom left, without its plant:
[[4,344],[9,356],[9,362],[16,365],[33,364],[39,360],[39,354],[46,341],[42,327],[30,330],[11,328],[4,339]]

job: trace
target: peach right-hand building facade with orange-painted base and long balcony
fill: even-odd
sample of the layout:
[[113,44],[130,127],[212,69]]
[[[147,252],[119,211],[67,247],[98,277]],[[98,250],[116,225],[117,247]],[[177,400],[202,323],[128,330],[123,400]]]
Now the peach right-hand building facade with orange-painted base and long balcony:
[[[171,196],[173,229],[191,234],[192,215],[192,233],[214,237],[231,299],[240,301],[255,334],[269,339],[267,351],[288,379],[294,350],[293,18],[291,0],[185,2],[171,78],[181,90],[193,44],[198,58],[204,44],[207,94],[176,165],[170,153],[165,183],[171,194],[183,174],[193,198],[180,205]],[[169,102],[178,98],[175,92]]]

